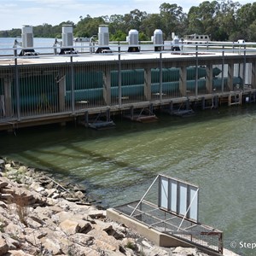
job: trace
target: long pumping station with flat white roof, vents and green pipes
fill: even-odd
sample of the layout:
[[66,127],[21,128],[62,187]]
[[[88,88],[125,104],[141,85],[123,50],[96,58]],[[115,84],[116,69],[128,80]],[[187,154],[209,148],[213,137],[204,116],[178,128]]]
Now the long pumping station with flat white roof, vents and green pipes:
[[103,25],[97,42],[74,39],[72,26],[49,47],[34,47],[32,26],[22,27],[21,39],[11,54],[0,52],[2,131],[67,121],[100,128],[113,125],[113,114],[148,121],[158,110],[183,116],[255,102],[253,43],[166,42],[160,29],[150,44],[137,30],[110,43]]

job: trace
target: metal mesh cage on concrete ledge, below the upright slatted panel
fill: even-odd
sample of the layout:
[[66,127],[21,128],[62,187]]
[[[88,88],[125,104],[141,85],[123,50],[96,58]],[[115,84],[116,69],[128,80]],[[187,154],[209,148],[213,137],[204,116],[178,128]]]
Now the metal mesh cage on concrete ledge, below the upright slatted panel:
[[114,210],[147,225],[149,229],[175,236],[189,242],[191,246],[205,247],[222,254],[224,250],[223,232],[159,207],[157,203],[158,184],[154,183],[150,186],[141,201],[129,202],[114,207]]

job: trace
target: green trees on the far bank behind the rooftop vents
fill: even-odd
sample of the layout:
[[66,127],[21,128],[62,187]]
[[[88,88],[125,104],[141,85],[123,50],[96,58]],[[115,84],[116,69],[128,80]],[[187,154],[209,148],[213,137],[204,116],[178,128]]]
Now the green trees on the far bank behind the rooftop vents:
[[[34,26],[34,37],[61,38],[61,27],[73,25],[74,37],[84,38],[97,36],[98,26],[107,24],[110,41],[124,41],[131,29],[137,29],[140,40],[150,40],[154,30],[160,28],[164,38],[171,39],[172,32],[179,37],[185,34],[208,34],[214,41],[256,41],[256,2],[241,5],[232,0],[205,1],[199,6],[192,6],[189,13],[176,3],[162,3],[159,14],[147,14],[139,9],[130,14],[111,15],[92,18],[90,15],[80,16],[77,24],[63,21],[57,26],[47,23]],[[20,36],[21,30],[0,31],[0,37]]]

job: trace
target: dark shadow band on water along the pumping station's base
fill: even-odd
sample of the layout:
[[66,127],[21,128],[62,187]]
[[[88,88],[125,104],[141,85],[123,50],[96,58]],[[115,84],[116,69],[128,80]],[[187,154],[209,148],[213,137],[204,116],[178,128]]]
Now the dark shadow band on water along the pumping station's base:
[[180,129],[183,125],[204,123],[213,119],[221,121],[228,116],[242,115],[253,111],[256,111],[255,105],[204,111],[197,110],[195,115],[186,118],[173,117],[166,113],[156,113],[159,120],[149,124],[131,122],[130,120],[115,116],[113,120],[117,124],[116,128],[104,131],[87,129],[80,125],[74,125],[73,123],[69,123],[65,127],[60,127],[59,125],[42,125],[32,128],[23,128],[16,130],[15,133],[9,134],[5,131],[0,131],[0,154],[19,154],[24,150],[48,148],[49,145],[52,144],[67,146],[69,143],[75,143],[81,140],[93,141],[96,138],[114,138],[123,133],[134,134],[141,131],[156,131],[165,127]]

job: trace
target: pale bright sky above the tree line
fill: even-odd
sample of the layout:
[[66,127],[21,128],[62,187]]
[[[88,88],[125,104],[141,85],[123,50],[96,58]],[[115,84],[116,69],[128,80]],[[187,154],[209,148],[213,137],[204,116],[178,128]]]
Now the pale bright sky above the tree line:
[[[198,6],[202,2],[203,0],[0,0],[0,31],[44,23],[55,26],[67,20],[77,23],[80,16],[125,15],[133,9],[158,14],[161,3],[177,3],[183,8],[183,12],[188,13],[192,5]],[[238,2],[253,3],[249,0]]]

